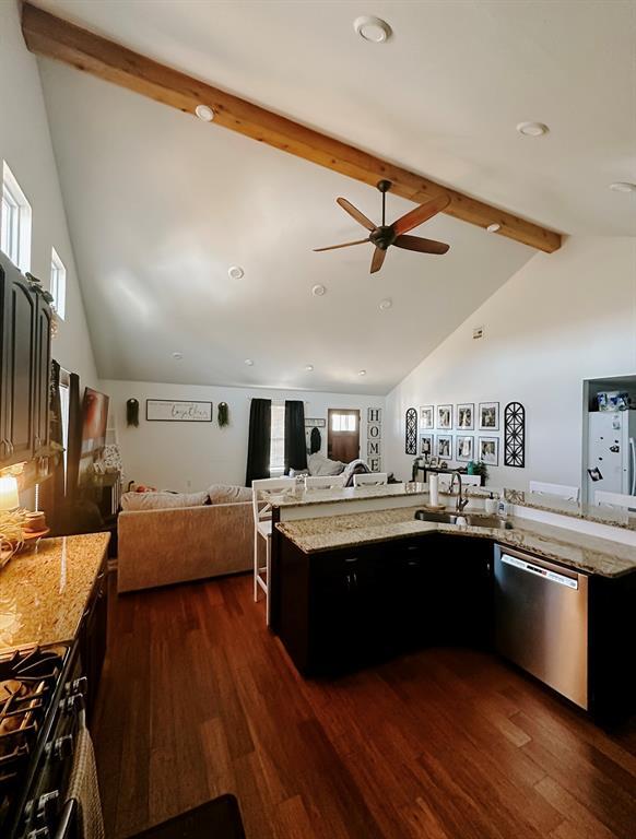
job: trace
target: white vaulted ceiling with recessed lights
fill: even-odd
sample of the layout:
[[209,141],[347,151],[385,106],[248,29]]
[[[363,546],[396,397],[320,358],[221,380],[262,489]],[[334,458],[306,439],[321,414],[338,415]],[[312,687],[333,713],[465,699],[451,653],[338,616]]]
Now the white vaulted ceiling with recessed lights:
[[[358,2],[40,4],[549,227],[636,228],[608,189],[636,169],[631,2],[380,2],[381,46],[353,32]],[[438,216],[414,233],[448,256],[392,249],[369,276],[370,246],[311,248],[358,237],[337,196],[378,220],[373,189],[47,59],[40,73],[104,378],[385,393],[534,253]],[[520,137],[526,119],[550,134]],[[390,197],[388,216],[412,206]]]

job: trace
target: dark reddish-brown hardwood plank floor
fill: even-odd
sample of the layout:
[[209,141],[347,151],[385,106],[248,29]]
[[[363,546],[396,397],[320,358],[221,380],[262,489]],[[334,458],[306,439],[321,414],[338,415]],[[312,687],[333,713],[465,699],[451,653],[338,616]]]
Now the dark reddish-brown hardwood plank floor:
[[224,792],[249,839],[636,837],[636,728],[608,734],[494,657],[305,682],[249,577],[111,594],[107,839]]

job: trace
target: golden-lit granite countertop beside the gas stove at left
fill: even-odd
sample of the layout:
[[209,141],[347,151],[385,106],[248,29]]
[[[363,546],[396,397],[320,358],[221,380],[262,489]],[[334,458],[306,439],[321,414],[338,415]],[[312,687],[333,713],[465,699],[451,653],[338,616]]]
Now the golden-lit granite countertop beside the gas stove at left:
[[0,652],[75,636],[109,539],[43,539],[0,570]]

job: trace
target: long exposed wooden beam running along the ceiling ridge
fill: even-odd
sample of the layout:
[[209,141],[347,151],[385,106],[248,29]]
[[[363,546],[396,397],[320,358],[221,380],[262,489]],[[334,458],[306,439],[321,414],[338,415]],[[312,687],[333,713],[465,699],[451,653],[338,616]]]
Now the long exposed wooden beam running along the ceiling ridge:
[[186,114],[193,114],[197,105],[208,105],[214,110],[213,126],[223,126],[373,187],[388,178],[393,185],[391,192],[415,203],[446,193],[450,197],[444,211],[447,215],[484,229],[499,224],[496,235],[547,253],[561,247],[561,235],[554,231],[233,96],[27,2],[23,4],[22,32],[32,52],[63,61]]

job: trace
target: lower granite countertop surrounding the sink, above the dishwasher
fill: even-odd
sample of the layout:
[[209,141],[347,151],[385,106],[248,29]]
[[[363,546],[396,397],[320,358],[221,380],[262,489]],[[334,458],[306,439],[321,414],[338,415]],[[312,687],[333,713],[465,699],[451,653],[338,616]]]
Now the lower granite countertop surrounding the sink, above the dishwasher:
[[[414,518],[416,509],[420,508],[302,519],[279,523],[276,528],[307,554],[438,532],[491,539],[602,577],[636,571],[636,548],[619,542],[519,518],[510,519],[511,530],[420,521]],[[470,515],[479,512],[471,510]]]

